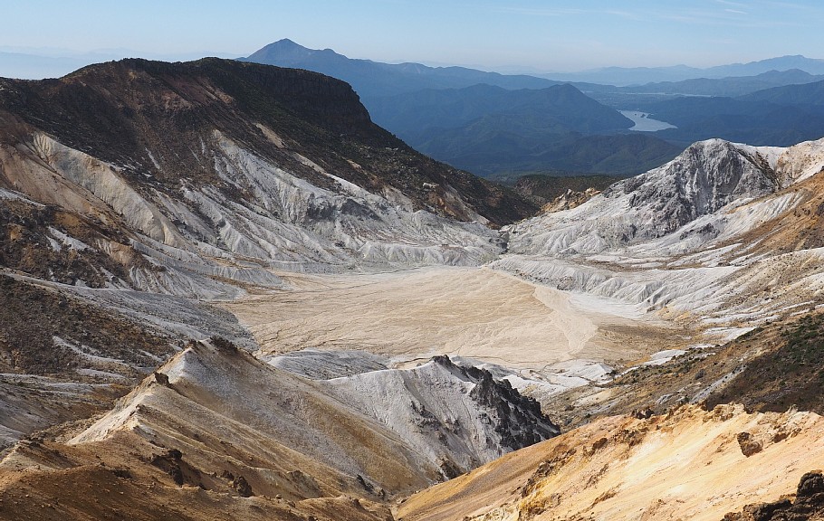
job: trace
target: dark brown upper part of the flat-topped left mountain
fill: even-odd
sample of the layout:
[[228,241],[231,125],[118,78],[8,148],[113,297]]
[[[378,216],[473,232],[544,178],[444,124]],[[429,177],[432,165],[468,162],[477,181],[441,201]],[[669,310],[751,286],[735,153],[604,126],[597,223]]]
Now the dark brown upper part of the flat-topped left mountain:
[[[194,166],[196,171],[204,172],[202,165],[192,163],[188,159],[176,159],[176,157],[191,156],[192,152],[170,146],[161,137],[162,132],[178,132],[181,131],[177,128],[178,126],[186,126],[187,129],[184,132],[192,136],[202,131],[202,128],[214,125],[213,121],[222,121],[228,128],[229,137],[253,146],[259,153],[279,157],[279,160],[286,162],[294,171],[306,175],[311,182],[321,187],[334,185],[325,175],[318,175],[313,168],[295,160],[289,154],[283,154],[283,148],[277,147],[262,130],[242,120],[249,118],[253,112],[256,118],[262,119],[263,124],[268,123],[271,128],[278,131],[297,133],[295,135],[297,138],[311,137],[315,140],[326,140],[327,144],[339,148],[339,154],[343,152],[341,146],[349,147],[347,152],[353,155],[352,159],[356,162],[359,159],[357,150],[343,143],[347,136],[372,140],[374,147],[398,147],[403,154],[415,156],[398,139],[371,124],[369,113],[359,104],[357,95],[349,86],[329,79],[321,80],[322,77],[315,73],[287,71],[219,59],[183,64],[134,60],[110,62],[102,67],[108,70],[101,66],[91,66],[76,71],[60,81],[26,83],[4,80],[2,81],[4,90],[0,91],[0,100],[2,100],[0,102],[7,111],[17,111],[21,118],[28,118],[29,125],[42,127],[69,147],[79,145],[81,140],[94,141],[99,144],[96,153],[101,155],[102,159],[116,165],[120,164],[127,174],[136,166],[132,163],[137,162],[140,167],[152,171],[152,175],[160,181],[164,180],[164,169],[187,168],[191,170]],[[160,104],[156,108],[148,109],[149,106],[130,106],[129,99],[112,98],[110,94],[102,90],[98,91],[95,90],[96,88],[89,87],[89,85],[94,85],[94,82],[107,81],[112,83],[110,91],[114,91],[113,85],[122,85],[126,81],[126,76],[132,73],[130,71],[143,75],[141,81],[143,81],[142,88],[145,92],[148,92],[145,89],[157,88],[163,90],[164,96],[169,99],[158,99]],[[212,81],[216,88],[209,87],[207,84],[187,84],[183,81],[186,74],[191,74],[193,78],[199,76],[200,81]],[[233,77],[232,74],[235,76]],[[179,86],[176,86],[176,81],[181,82]],[[45,92],[48,92],[49,99],[53,99],[55,103],[61,103],[63,109],[48,110],[49,101],[45,98],[38,98],[43,95],[33,90],[34,85],[43,85]],[[135,89],[139,85],[141,85],[140,82],[135,83],[131,88]],[[269,96],[271,97],[265,99],[261,98],[262,89],[275,90],[270,90]],[[278,89],[281,91],[278,92]],[[272,93],[274,93],[273,97]],[[25,102],[22,101],[22,96],[25,96]],[[84,112],[87,108],[76,101],[82,96],[90,96],[97,107],[104,111],[100,114]],[[192,99],[187,99],[187,96],[191,96]],[[221,96],[224,99],[220,99]],[[324,99],[325,104],[309,101],[315,97]],[[73,111],[73,114],[69,111]],[[83,119],[90,116],[98,118],[95,125],[83,127]],[[68,118],[72,118],[72,121],[74,118],[79,118],[80,124],[70,122]],[[301,120],[310,121],[317,129],[306,127],[300,122]],[[158,132],[158,123],[167,128],[159,129],[160,132]],[[139,130],[136,124],[140,126]],[[5,127],[5,135],[8,138],[14,138],[8,135],[9,128],[14,128],[14,125]],[[322,134],[318,134],[319,130]],[[138,138],[138,134],[148,137],[149,142],[141,142],[144,138]],[[302,144],[302,147],[309,146],[311,146],[311,141]],[[147,150],[156,149],[158,152],[157,148],[162,153],[149,156]],[[315,153],[318,151],[316,150]],[[433,172],[439,168],[434,162],[427,162],[423,158],[415,160],[419,162],[418,168],[423,167]],[[340,175],[370,189],[379,189],[382,184],[378,175],[365,175],[346,161],[338,159],[334,167]],[[383,175],[389,174],[389,172],[383,173]],[[456,176],[456,180],[462,178],[462,175],[454,170],[452,175]],[[436,184],[445,182],[443,174],[426,177],[426,182]],[[475,187],[481,188],[482,191],[483,186],[492,186],[483,182],[477,184],[472,181],[471,176],[463,175],[463,180],[463,182],[469,182],[470,185],[475,184]],[[400,185],[402,190],[408,190],[407,179],[398,176],[395,182],[402,184]],[[420,193],[419,185],[417,191]],[[484,195],[478,203],[484,204],[483,198]]]

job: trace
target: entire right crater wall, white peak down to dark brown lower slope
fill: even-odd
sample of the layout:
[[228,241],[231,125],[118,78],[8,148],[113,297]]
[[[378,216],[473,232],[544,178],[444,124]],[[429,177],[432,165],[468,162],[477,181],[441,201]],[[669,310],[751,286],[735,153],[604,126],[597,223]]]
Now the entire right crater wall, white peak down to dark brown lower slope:
[[821,412],[822,167],[821,140],[714,139],[504,229],[510,253],[491,268],[564,290],[580,308],[674,327],[672,343],[621,363],[609,384],[553,394],[561,426],[705,400]]

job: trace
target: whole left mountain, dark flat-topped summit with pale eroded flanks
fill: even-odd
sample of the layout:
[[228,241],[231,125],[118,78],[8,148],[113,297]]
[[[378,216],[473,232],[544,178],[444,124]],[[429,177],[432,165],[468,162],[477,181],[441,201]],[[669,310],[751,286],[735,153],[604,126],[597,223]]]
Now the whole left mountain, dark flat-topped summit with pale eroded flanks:
[[[60,212],[76,215],[73,249],[108,271],[87,274],[90,285],[208,296],[221,291],[215,277],[273,283],[249,261],[473,263],[497,246],[468,222],[532,211],[417,154],[372,124],[348,85],[308,71],[112,62],[55,81],[0,81],[0,111],[2,187],[23,194],[4,199],[57,206],[21,209],[41,233],[55,228],[45,235],[56,242],[70,232],[54,226]],[[7,262],[24,268],[26,241],[15,242]]]

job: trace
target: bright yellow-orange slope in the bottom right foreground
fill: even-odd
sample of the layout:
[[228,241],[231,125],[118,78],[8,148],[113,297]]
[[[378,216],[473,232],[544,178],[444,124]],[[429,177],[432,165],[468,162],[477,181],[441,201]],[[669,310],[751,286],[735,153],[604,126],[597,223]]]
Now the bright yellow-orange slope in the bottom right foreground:
[[398,516],[446,520],[720,519],[791,494],[824,466],[824,419],[685,406],[609,417],[409,498]]

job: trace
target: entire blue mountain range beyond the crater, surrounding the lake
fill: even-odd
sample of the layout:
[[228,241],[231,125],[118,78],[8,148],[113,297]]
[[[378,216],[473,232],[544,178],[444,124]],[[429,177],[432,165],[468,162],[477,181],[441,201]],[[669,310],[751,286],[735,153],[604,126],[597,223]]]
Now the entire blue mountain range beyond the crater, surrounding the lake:
[[[494,178],[550,171],[634,175],[709,137],[790,145],[824,135],[818,109],[824,60],[804,56],[708,69],[611,67],[540,79],[350,60],[291,40],[243,60],[348,81],[371,117],[412,147]],[[676,128],[638,135],[616,109],[643,110]]]

